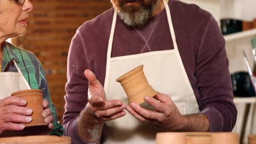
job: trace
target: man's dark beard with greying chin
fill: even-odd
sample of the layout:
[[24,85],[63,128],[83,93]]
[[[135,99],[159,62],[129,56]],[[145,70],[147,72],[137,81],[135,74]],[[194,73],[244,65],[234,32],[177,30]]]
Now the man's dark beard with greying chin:
[[137,0],[136,4],[125,5],[125,1],[117,0],[113,4],[126,26],[142,28],[152,16],[156,2],[157,0],[147,3],[144,0]]

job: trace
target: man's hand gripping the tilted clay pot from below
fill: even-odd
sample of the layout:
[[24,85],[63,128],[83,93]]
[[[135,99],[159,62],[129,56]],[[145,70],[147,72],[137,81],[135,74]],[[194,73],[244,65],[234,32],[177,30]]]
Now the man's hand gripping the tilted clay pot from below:
[[162,130],[181,131],[183,129],[186,118],[179,113],[170,96],[158,93],[154,98],[145,97],[144,100],[152,105],[155,111],[144,109],[136,103],[127,106],[126,110],[139,121],[153,123]]

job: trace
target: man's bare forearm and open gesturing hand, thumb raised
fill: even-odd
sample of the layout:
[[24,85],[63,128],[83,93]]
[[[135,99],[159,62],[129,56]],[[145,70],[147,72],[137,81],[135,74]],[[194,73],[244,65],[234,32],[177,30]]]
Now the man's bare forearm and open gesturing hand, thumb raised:
[[89,102],[78,116],[77,129],[84,141],[95,143],[100,140],[104,121],[123,117],[126,106],[120,100],[106,100],[104,88],[92,71],[85,70],[84,75],[89,81]]

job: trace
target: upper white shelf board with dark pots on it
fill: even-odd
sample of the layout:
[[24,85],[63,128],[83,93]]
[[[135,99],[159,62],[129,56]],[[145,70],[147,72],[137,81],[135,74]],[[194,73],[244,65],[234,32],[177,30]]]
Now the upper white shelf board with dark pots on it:
[[244,32],[228,34],[228,35],[225,35],[224,38],[225,38],[226,42],[229,42],[229,41],[237,40],[237,39],[241,39],[241,38],[252,37],[254,35],[256,36],[256,28],[248,30],[248,31],[244,31]]

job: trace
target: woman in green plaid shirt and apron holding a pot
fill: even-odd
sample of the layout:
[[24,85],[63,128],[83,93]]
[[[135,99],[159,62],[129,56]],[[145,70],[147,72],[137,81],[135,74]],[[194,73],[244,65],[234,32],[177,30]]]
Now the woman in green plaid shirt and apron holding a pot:
[[22,123],[32,121],[32,110],[25,107],[26,101],[10,97],[11,93],[23,89],[43,90],[42,117],[48,128],[40,131],[40,134],[48,131],[51,131],[51,135],[63,134],[63,127],[57,122],[56,110],[51,103],[42,65],[31,52],[5,41],[25,34],[28,11],[32,9],[29,0],[0,1],[0,137],[4,131],[24,130]]

